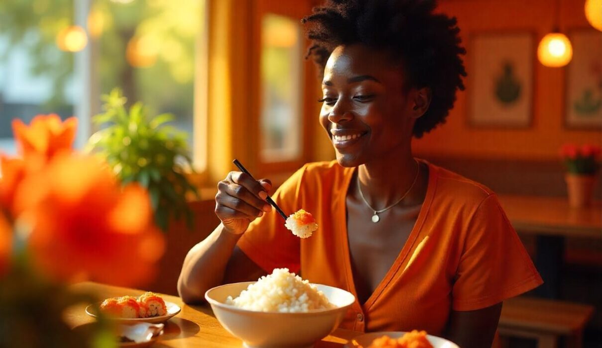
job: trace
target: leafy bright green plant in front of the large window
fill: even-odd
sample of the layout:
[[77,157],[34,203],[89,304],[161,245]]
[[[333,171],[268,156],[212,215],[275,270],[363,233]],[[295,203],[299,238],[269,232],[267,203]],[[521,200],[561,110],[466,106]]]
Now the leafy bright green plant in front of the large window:
[[186,133],[166,125],[172,114],[150,117],[141,102],[126,109],[119,89],[102,96],[103,113],[93,122],[101,128],[90,137],[88,150],[101,154],[122,182],[138,182],[151,197],[155,223],[166,231],[170,219],[186,219],[192,228],[187,197],[198,198],[186,172],[193,172]]

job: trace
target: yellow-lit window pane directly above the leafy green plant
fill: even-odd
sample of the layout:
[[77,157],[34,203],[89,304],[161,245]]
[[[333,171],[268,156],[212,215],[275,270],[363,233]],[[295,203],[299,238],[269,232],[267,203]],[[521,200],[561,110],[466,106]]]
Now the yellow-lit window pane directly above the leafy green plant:
[[193,148],[194,53],[201,1],[93,1],[88,31],[101,94],[120,87],[153,114],[175,115]]

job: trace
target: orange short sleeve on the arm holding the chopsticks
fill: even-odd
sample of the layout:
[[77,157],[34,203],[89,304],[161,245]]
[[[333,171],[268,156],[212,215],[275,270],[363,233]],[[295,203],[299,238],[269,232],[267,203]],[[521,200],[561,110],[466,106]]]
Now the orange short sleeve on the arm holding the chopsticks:
[[[305,166],[282,184],[272,199],[286,213],[296,212],[299,201],[299,186]],[[291,272],[300,269],[300,240],[284,226],[282,216],[272,209],[261,218],[255,219],[238,240],[238,247],[265,272],[287,267]]]

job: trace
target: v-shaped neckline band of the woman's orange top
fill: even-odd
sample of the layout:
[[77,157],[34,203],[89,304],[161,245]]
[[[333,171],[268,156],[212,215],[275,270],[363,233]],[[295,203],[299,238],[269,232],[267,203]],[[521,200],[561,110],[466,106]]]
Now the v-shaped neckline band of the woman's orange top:
[[424,224],[424,219],[426,219],[427,212],[429,211],[430,204],[432,202],[433,196],[435,195],[435,180],[436,180],[436,168],[431,165],[429,162],[425,160],[419,160],[422,163],[425,163],[429,167],[429,178],[428,184],[426,188],[426,195],[424,197],[424,202],[422,207],[420,208],[420,212],[418,213],[418,218],[412,227],[412,231],[408,236],[408,240],[403,245],[402,251],[399,252],[397,258],[393,262],[393,265],[386,272],[385,276],[380,280],[377,287],[374,289],[374,292],[371,293],[370,297],[366,300],[365,304],[359,303],[358,292],[355,288],[355,281],[353,279],[353,270],[351,263],[351,255],[349,251],[349,234],[347,230],[347,192],[349,192],[349,185],[353,178],[353,174],[357,168],[347,168],[347,175],[345,177],[345,194],[341,195],[342,201],[338,206],[337,219],[335,221],[344,221],[344,224],[338,224],[338,232],[341,236],[342,243],[340,243],[341,248],[343,248],[343,266],[345,272],[345,279],[347,281],[347,287],[350,289],[350,292],[355,296],[355,302],[359,305],[359,308],[362,310],[369,310],[370,307],[376,302],[379,298],[380,294],[382,294],[383,290],[385,290],[386,286],[391,282],[393,277],[397,274],[399,267],[403,264],[403,261],[408,256],[409,251],[412,249],[414,242],[416,241],[418,234],[420,234],[420,230],[422,229],[422,225]]

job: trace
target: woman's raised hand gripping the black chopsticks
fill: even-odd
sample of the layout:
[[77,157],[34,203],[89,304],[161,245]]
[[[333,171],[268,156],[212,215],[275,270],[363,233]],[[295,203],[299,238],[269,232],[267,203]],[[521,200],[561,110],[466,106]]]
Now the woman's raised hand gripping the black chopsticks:
[[216,215],[226,231],[242,234],[251,221],[272,211],[265,201],[272,188],[270,180],[253,180],[249,175],[232,171],[217,184]]

